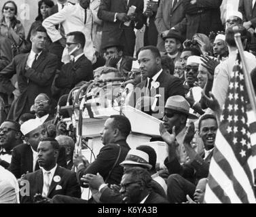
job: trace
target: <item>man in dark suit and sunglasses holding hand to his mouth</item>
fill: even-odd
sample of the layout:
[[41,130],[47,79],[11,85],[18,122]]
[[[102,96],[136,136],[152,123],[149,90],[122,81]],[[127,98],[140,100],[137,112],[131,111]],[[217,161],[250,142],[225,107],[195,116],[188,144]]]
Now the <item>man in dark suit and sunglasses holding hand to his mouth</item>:
[[80,81],[93,79],[92,63],[84,55],[86,37],[81,32],[72,32],[67,35],[67,50],[73,56],[71,62],[64,64],[58,73],[55,85],[60,89],[59,96],[69,92]]

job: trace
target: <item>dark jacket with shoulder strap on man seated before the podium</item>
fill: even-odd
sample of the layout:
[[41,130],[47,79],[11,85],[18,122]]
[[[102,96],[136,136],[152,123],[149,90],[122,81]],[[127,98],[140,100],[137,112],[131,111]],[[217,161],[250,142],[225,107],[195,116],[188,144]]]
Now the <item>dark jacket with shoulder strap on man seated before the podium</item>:
[[[119,144],[120,147],[117,146],[117,144]],[[120,148],[120,158],[118,159],[108,180],[106,180],[117,159]],[[87,168],[84,166],[78,167],[78,180],[80,181],[81,176],[84,176],[85,174],[99,173],[108,184],[120,184],[124,170],[123,167],[120,166],[120,163],[124,161],[129,150],[130,147],[125,140],[117,141],[116,144],[106,144],[102,149],[100,149],[100,153],[98,153],[95,161],[93,161]]]

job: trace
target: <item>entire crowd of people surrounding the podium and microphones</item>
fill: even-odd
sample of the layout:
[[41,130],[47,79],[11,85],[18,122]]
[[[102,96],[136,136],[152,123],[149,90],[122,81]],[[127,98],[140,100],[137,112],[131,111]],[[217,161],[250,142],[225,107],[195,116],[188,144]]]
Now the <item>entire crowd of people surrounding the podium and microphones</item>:
[[[221,3],[40,0],[26,36],[15,1],[6,1],[0,203],[204,203],[238,54],[235,33],[256,92],[255,0],[240,0],[224,23]],[[86,159],[75,151],[76,125],[65,121],[77,102],[132,106],[159,119],[152,141],[166,143],[166,159],[157,162],[150,145],[130,149],[132,124],[122,109],[98,129],[103,148],[95,160]],[[84,188],[90,199],[81,199]]]

